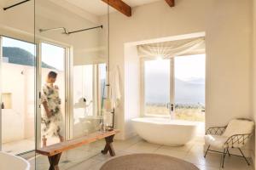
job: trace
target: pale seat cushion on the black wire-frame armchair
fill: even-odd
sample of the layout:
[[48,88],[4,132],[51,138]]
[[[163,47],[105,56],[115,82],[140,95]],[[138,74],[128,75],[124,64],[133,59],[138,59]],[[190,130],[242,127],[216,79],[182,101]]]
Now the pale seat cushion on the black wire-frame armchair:
[[218,136],[218,135],[210,135],[207,134],[205,136],[205,142],[206,144],[210,144],[211,146],[219,149],[223,149],[224,143],[229,139],[228,137],[225,136]]

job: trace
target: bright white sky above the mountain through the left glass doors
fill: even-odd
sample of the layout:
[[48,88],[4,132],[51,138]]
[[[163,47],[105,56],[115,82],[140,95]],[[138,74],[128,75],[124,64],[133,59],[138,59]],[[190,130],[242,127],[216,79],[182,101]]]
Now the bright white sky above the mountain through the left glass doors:
[[[3,37],[3,47],[22,48],[35,55],[34,45],[30,42],[23,42],[9,37]],[[65,68],[65,48],[42,42],[42,61],[59,71]]]

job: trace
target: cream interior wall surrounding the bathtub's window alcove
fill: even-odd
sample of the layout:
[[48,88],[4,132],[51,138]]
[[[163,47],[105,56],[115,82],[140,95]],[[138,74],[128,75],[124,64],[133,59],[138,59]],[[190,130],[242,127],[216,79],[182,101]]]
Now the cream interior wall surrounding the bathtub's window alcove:
[[[222,126],[235,117],[252,117],[250,105],[250,62],[252,36],[251,0],[165,1],[133,8],[131,18],[110,15],[110,66],[119,65],[122,102],[117,110],[119,139],[131,134],[125,88],[125,43],[193,32],[206,32],[207,117],[206,126]],[[102,17],[106,20],[106,17]],[[129,77],[129,75],[128,75]],[[128,101],[125,101],[128,99]],[[139,104],[138,104],[139,105]],[[139,115],[139,113],[137,113]]]

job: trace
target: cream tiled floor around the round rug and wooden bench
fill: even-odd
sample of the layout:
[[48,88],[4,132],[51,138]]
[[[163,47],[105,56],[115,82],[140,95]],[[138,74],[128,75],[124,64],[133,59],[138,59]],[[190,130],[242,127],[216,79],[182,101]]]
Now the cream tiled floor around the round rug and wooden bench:
[[[117,156],[123,156],[132,153],[157,153],[167,156],[174,156],[185,161],[194,163],[201,170],[218,170],[220,168],[221,156],[218,154],[209,153],[207,158],[203,157],[203,144],[201,138],[197,138],[181,147],[170,147],[159,144],[149,144],[148,142],[138,137],[125,141],[114,141],[114,148]],[[109,159],[110,156],[103,156],[100,153],[104,146],[104,141],[99,141],[90,145],[75,150],[69,150],[61,156],[60,170],[98,170],[102,164]],[[30,160],[33,165],[35,160]],[[48,169],[48,160],[45,156],[38,156],[37,170]],[[243,159],[236,156],[227,157],[224,170],[253,170],[253,167],[248,167]]]

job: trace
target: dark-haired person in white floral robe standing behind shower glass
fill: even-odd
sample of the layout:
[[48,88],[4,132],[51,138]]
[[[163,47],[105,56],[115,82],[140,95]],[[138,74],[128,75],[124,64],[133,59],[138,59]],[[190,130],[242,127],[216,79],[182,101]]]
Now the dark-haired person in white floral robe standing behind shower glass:
[[43,147],[47,145],[47,137],[58,137],[60,142],[64,141],[61,99],[59,96],[59,88],[55,85],[56,78],[57,73],[55,71],[49,71],[41,95],[41,102],[44,106],[41,122]]

